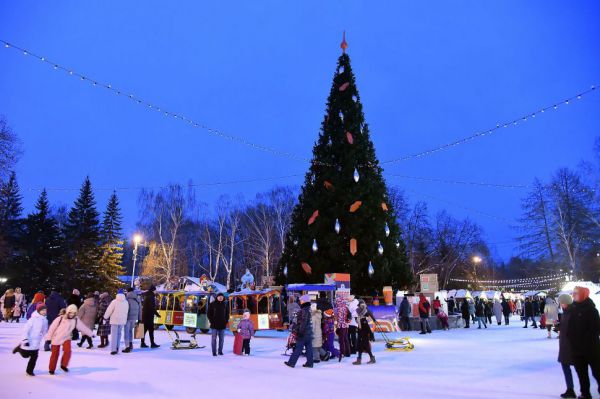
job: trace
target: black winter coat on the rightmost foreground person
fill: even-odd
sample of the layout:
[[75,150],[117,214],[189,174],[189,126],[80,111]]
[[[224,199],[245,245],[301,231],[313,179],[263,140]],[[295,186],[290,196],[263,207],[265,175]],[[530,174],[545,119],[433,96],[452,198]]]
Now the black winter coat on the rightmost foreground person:
[[590,298],[572,305],[568,329],[567,336],[574,361],[578,358],[600,360],[600,316]]

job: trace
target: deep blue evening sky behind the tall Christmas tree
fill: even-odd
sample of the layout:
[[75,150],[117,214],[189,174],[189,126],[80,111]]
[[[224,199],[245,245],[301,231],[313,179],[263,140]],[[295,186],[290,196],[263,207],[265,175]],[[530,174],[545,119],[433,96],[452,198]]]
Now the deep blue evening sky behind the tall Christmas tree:
[[[161,107],[309,158],[341,32],[347,31],[365,116],[381,161],[491,128],[600,85],[597,1],[18,1],[0,3],[0,38]],[[591,159],[600,90],[516,127],[386,174],[529,184]],[[0,114],[23,142],[29,189],[161,186],[303,174],[275,157],[166,118],[32,57],[0,48]],[[480,223],[497,254],[522,189],[387,178],[432,213]],[[300,184],[302,177],[278,180]],[[199,188],[247,198],[275,182]],[[70,205],[77,190],[50,191]],[[109,191],[97,191],[104,209]],[[136,190],[119,191],[127,234]],[[488,215],[494,215],[496,218]]]

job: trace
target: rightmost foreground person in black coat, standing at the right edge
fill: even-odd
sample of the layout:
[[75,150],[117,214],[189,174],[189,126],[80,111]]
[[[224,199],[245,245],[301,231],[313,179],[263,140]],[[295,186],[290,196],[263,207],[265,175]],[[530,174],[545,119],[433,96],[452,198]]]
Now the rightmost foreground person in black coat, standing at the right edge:
[[590,299],[590,290],[575,287],[573,308],[569,320],[567,337],[571,344],[571,356],[579,377],[580,398],[591,398],[588,368],[596,382],[600,383],[600,316]]

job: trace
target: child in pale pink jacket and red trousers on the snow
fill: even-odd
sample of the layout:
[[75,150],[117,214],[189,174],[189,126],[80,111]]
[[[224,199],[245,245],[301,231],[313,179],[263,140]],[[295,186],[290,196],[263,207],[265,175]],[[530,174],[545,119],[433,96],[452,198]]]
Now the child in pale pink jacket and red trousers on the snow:
[[69,360],[71,360],[71,335],[73,330],[77,329],[82,334],[92,336],[94,333],[87,328],[85,324],[77,317],[77,306],[69,305],[65,314],[54,319],[48,333],[46,341],[50,341],[52,354],[50,355],[50,364],[48,366],[50,374],[54,374],[58,357],[60,355],[60,347],[63,348],[63,355],[60,361],[60,368],[64,372],[68,372]]

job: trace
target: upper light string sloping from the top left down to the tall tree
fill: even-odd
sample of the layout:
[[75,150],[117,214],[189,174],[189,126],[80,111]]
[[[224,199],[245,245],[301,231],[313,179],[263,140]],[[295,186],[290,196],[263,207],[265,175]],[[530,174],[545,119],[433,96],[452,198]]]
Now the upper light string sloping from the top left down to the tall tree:
[[114,87],[112,84],[110,83],[105,83],[105,82],[101,82],[100,80],[97,79],[93,79],[90,76],[87,76],[85,74],[79,73],[77,71],[74,71],[71,68],[68,68],[62,64],[59,64],[57,62],[51,61],[46,57],[43,57],[41,55],[38,55],[36,53],[33,53],[25,48],[16,46],[12,43],[7,42],[6,40],[2,40],[0,39],[0,43],[4,44],[4,47],[7,49],[13,49],[13,50],[17,50],[20,51],[23,55],[34,58],[40,62],[43,62],[44,64],[52,67],[54,70],[57,71],[62,71],[67,73],[69,76],[72,76],[74,78],[79,78],[79,80],[81,80],[82,82],[85,83],[89,83],[91,84],[93,87],[98,87],[98,88],[104,88],[107,90],[110,90],[111,92],[115,93],[116,95],[129,99],[131,101],[133,101],[136,104],[142,105],[144,107],[146,107],[149,110],[161,113],[162,115],[164,115],[167,118],[173,118],[173,119],[177,119],[183,123],[188,124],[190,127],[193,128],[198,128],[198,129],[202,129],[208,133],[210,133],[213,136],[217,136],[220,137],[222,139],[228,140],[228,141],[232,141],[250,148],[253,148],[255,150],[259,150],[259,151],[263,151],[263,152],[267,152],[267,153],[271,153],[275,156],[278,157],[283,157],[283,158],[288,158],[294,161],[302,161],[302,162],[314,162],[311,159],[308,158],[304,158],[301,156],[298,156],[296,154],[293,154],[291,152],[286,152],[286,151],[281,151],[281,150],[277,150],[273,147],[269,147],[266,145],[262,145],[262,144],[257,144],[254,143],[244,137],[240,137],[240,136],[234,136],[231,134],[227,134],[224,133],[223,131],[219,130],[219,129],[215,129],[209,126],[204,125],[201,122],[195,121],[183,114],[180,113],[176,113],[176,112],[172,112],[169,111],[167,109],[165,109],[164,107],[158,106],[155,103],[146,101],[142,98],[140,98],[139,96],[135,95],[135,94],[127,94],[127,92],[123,89]]

